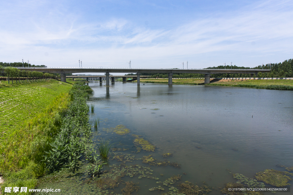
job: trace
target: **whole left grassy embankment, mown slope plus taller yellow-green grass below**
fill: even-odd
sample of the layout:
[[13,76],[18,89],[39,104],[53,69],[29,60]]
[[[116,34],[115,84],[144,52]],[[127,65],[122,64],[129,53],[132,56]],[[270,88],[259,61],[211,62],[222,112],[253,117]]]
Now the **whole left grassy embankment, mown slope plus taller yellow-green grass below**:
[[[57,80],[0,85],[0,174],[4,186],[34,188],[45,171],[40,162],[57,134],[72,86]],[[4,189],[1,189],[4,192]]]

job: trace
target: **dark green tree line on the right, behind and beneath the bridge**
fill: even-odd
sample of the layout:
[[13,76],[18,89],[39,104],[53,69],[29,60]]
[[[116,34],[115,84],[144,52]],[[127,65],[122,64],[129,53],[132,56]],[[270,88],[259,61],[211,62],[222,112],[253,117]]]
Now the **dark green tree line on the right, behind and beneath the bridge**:
[[[178,69],[178,68],[176,68]],[[293,77],[293,60],[289,59],[289,60],[285,60],[282,63],[270,63],[270,64],[266,64],[266,65],[259,65],[256,66],[254,68],[250,68],[250,67],[244,67],[244,66],[224,66],[224,65],[220,65],[217,67],[208,67],[205,69],[264,69],[264,70],[269,70],[270,72],[267,73],[261,73],[258,72],[257,75],[250,75],[250,74],[211,74],[211,77],[213,78],[241,78],[241,77],[258,77],[258,78],[262,78],[262,77],[268,77],[268,78],[272,78],[272,77]],[[130,74],[125,74],[125,76],[133,76],[136,75],[134,73],[130,73]],[[141,73],[142,76],[151,76],[151,78],[168,78],[168,74],[164,74],[164,73]],[[179,73],[179,74],[173,74],[173,78],[203,78],[205,75],[204,74],[191,74],[191,73]]]

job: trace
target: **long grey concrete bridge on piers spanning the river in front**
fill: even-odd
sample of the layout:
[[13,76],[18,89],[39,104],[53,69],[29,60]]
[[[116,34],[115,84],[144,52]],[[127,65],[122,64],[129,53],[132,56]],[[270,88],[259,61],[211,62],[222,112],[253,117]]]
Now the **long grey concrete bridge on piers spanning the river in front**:
[[[72,67],[17,67],[19,70],[30,70],[39,71],[43,73],[59,73],[61,81],[66,82],[67,73],[105,73],[106,75],[106,86],[109,85],[110,73],[136,73],[137,74],[137,85],[141,73],[168,73],[168,85],[172,85],[172,75],[175,73],[193,73],[193,74],[204,74],[205,84],[210,82],[211,74],[220,73],[234,73],[234,74],[257,74],[258,72],[264,73],[270,70],[261,69],[155,69],[155,68],[72,68]],[[115,76],[114,76],[115,77]]]

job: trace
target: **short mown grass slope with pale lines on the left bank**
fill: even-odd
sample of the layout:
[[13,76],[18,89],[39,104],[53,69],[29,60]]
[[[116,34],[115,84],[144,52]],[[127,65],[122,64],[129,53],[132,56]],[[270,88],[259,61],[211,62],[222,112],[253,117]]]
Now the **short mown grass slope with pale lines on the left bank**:
[[60,93],[71,85],[57,80],[32,84],[6,85],[0,88],[0,139],[15,134],[23,122],[44,110]]

